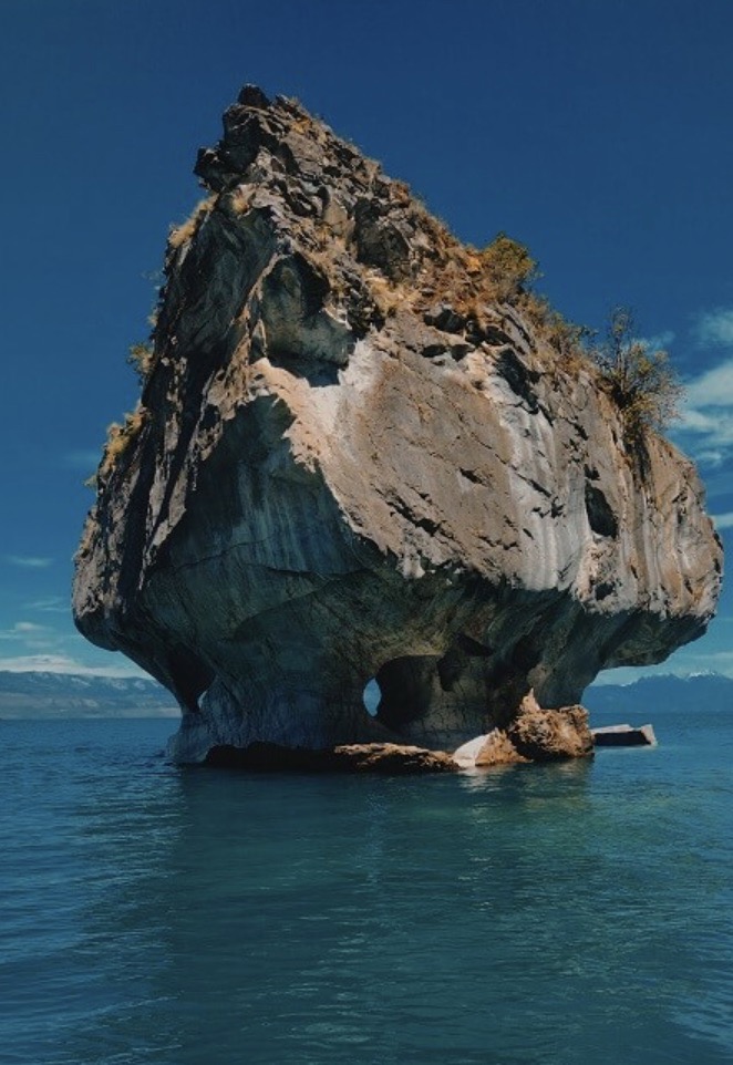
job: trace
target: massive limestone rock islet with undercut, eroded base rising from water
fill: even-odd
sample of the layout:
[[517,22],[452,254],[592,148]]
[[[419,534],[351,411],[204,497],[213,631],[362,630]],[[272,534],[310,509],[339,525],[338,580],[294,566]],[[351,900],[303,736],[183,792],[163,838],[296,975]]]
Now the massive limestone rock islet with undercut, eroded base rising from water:
[[74,588],[81,631],[178,699],[178,757],[454,747],[704,631],[690,463],[629,448],[593,366],[402,183],[255,89],[197,174]]

